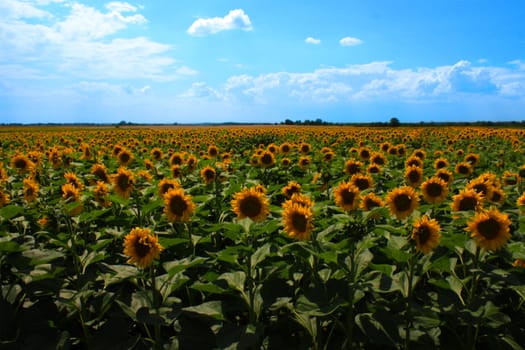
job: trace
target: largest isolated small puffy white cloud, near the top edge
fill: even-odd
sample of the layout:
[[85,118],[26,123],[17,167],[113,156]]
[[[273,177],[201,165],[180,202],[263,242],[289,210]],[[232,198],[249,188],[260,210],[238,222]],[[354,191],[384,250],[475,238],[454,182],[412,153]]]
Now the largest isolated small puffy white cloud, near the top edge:
[[192,23],[187,32],[190,35],[202,36],[232,29],[252,30],[250,17],[244,10],[231,10],[225,17],[199,18]]

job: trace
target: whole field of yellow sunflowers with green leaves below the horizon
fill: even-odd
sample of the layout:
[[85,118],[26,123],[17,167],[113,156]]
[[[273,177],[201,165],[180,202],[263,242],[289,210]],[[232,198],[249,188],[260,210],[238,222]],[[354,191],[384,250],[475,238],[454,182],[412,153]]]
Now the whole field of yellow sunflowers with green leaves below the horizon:
[[2,349],[522,349],[525,130],[0,129]]

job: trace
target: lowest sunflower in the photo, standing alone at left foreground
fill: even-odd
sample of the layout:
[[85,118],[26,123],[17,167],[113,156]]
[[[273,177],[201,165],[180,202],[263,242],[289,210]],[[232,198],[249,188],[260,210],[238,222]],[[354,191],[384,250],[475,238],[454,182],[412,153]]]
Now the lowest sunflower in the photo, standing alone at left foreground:
[[147,228],[135,227],[124,238],[124,254],[129,257],[127,263],[140,268],[149,267],[160,257],[162,249],[157,236]]

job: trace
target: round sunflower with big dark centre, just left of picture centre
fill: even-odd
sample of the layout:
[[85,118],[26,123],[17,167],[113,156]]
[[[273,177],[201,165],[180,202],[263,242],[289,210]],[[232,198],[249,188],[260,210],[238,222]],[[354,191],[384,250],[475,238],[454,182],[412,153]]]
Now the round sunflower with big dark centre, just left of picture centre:
[[270,213],[266,195],[255,188],[244,188],[241,192],[235,193],[231,204],[239,220],[248,217],[252,221],[261,222]]

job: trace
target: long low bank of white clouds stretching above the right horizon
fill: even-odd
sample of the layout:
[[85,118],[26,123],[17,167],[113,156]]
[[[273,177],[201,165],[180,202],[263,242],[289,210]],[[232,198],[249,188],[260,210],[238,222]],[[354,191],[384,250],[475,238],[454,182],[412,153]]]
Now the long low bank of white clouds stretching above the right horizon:
[[[274,72],[236,75],[213,91],[214,99],[279,104],[359,103],[367,101],[450,101],[496,96],[521,99],[525,96],[525,69],[521,61],[507,67],[475,66],[461,60],[452,65],[395,69],[392,62],[371,62],[346,67],[319,68],[312,72]],[[209,94],[200,94],[206,97]],[[192,97],[198,97],[193,94]],[[523,101],[525,102],[525,101]]]

